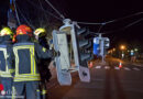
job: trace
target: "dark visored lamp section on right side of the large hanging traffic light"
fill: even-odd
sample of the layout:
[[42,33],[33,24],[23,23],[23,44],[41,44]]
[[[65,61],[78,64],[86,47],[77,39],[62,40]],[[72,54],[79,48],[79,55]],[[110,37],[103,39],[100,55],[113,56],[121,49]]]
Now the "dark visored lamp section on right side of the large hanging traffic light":
[[89,59],[92,58],[91,51],[91,40],[88,38],[90,34],[89,30],[87,29],[76,29],[76,38],[77,38],[77,48],[79,55],[79,62],[81,65],[85,65]]

